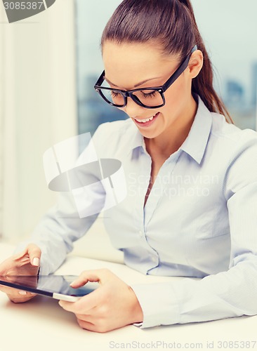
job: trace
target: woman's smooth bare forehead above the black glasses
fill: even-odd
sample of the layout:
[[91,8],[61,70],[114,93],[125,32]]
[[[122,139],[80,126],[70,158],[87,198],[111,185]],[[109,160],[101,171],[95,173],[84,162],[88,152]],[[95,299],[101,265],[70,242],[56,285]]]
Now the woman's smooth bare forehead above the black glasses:
[[[103,46],[105,76],[120,88],[133,88],[138,81],[164,77],[173,71],[178,59],[164,55],[154,44],[117,44]],[[157,79],[156,79],[157,82]],[[155,84],[155,81],[152,81]]]

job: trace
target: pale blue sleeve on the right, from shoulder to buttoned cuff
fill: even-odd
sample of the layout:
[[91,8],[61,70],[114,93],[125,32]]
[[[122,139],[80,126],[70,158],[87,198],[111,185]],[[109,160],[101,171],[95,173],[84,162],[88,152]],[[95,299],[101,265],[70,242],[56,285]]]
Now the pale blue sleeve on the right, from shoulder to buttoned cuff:
[[143,328],[257,314],[256,138],[235,154],[223,182],[231,239],[228,270],[197,280],[133,285]]

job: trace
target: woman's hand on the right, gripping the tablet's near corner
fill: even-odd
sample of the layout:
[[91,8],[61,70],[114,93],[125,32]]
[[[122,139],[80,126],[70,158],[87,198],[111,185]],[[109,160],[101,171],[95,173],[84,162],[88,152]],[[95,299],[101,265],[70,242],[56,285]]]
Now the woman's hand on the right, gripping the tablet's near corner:
[[98,282],[100,286],[74,303],[59,301],[62,308],[76,315],[81,328],[103,333],[143,321],[133,289],[110,270],[84,271],[70,285],[79,288],[87,282]]

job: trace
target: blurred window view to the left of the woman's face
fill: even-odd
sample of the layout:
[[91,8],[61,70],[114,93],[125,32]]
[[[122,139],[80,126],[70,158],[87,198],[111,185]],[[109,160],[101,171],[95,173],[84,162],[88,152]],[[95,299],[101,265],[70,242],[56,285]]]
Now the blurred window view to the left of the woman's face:
[[108,106],[93,88],[103,72],[100,37],[120,0],[77,0],[77,103],[79,134],[93,132],[106,121],[126,119],[126,114]]

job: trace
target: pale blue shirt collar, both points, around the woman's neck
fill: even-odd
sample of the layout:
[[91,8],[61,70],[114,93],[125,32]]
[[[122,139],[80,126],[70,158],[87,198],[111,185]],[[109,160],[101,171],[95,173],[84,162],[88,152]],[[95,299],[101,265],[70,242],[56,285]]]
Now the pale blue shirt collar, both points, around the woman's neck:
[[[195,119],[190,128],[184,143],[181,145],[180,150],[189,154],[198,164],[201,163],[204,156],[204,151],[208,143],[209,134],[211,131],[212,117],[211,112],[204,105],[204,102],[198,96],[198,108]],[[140,134],[138,128],[133,124],[135,133],[131,138],[128,153],[136,147],[143,147],[145,149],[145,141],[143,135]]]

